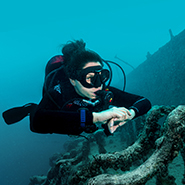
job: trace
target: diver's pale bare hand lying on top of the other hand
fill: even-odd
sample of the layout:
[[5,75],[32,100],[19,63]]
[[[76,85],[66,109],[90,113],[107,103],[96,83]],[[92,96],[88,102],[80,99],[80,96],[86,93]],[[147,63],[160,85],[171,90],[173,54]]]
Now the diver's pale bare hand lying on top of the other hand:
[[129,119],[132,114],[124,107],[113,107],[101,112],[93,112],[93,123],[106,123],[114,118],[114,121],[122,122]]

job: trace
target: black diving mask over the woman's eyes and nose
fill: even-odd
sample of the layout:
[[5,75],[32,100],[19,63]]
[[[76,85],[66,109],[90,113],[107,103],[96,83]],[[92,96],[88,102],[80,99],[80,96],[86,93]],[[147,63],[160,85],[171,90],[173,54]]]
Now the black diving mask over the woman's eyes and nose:
[[93,66],[82,69],[76,78],[84,87],[100,87],[109,79],[109,70],[101,66]]

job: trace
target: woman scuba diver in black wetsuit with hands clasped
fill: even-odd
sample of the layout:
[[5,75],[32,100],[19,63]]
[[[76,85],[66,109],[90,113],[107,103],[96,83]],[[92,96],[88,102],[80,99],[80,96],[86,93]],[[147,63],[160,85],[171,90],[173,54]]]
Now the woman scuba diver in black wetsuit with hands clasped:
[[29,115],[30,129],[36,133],[80,135],[103,129],[112,135],[128,120],[147,113],[151,103],[107,86],[110,70],[103,67],[103,59],[86,49],[83,40],[68,42],[62,55],[46,65],[40,103],[6,110],[5,122],[13,124]]

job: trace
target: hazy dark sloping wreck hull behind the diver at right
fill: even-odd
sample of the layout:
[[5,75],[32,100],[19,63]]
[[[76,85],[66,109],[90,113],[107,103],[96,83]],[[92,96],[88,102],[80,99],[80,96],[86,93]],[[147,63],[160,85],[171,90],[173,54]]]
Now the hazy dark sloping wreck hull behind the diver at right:
[[127,91],[148,97],[155,105],[185,104],[185,30],[154,54],[127,77]]

